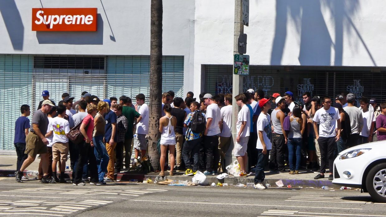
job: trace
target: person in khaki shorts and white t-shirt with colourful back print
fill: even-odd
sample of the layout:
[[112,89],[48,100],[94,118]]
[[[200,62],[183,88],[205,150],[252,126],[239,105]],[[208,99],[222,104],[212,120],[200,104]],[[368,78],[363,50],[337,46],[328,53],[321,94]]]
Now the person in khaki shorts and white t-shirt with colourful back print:
[[[59,105],[56,109],[58,116],[52,118],[49,125],[48,136],[52,135],[52,183],[59,182],[56,175],[56,165],[60,161],[60,182],[65,183],[64,171],[66,170],[66,161],[68,156],[68,133],[70,131],[69,122],[64,119],[66,107]],[[46,136],[47,136],[46,135]]]

